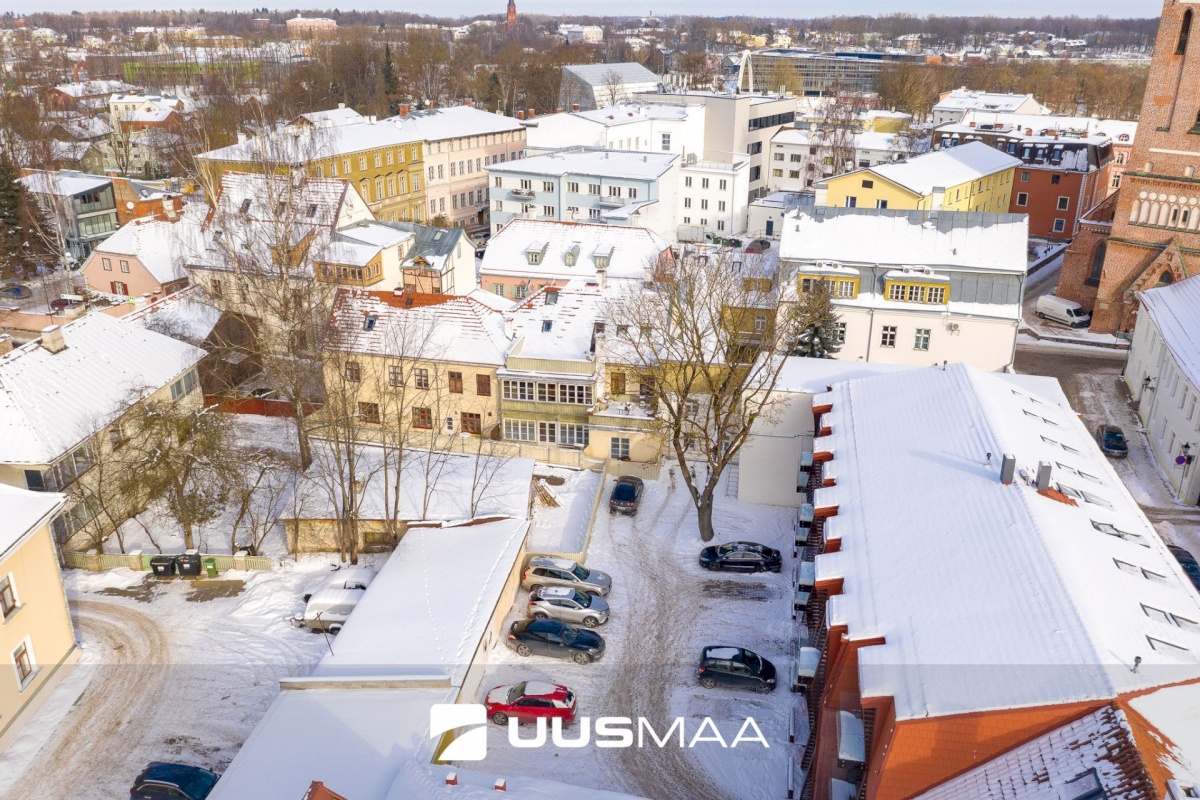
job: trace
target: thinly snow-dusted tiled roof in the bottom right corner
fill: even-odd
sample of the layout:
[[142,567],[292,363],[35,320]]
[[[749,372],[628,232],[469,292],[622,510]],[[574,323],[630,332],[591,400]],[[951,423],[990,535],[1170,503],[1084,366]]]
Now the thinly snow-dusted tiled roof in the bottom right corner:
[[[1114,705],[1055,728],[937,786],[914,800],[1064,800],[1096,780],[1106,798],[1157,796],[1124,711]],[[1094,784],[1093,784],[1094,786]],[[1087,796],[1087,795],[1084,795]]]

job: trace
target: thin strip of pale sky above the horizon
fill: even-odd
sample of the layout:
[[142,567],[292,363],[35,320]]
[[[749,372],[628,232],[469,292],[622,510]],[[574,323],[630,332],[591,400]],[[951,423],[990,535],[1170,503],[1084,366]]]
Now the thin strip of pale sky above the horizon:
[[[265,4],[264,4],[265,5]],[[438,6],[438,12],[456,16],[474,16],[504,12],[506,0],[458,0]],[[173,10],[187,7],[203,7],[209,11],[244,10],[247,6],[256,7],[253,0],[205,0],[196,4],[194,0],[187,5],[172,5],[163,0],[25,0],[19,4],[24,12],[34,11],[113,11],[113,10]],[[17,7],[17,4],[13,4]],[[266,7],[274,7],[266,5]],[[317,6],[314,6],[317,7]],[[404,4],[395,0],[329,0],[325,8],[338,7],[342,11],[356,10],[384,10],[384,11],[413,11],[424,13],[430,10],[424,4]],[[1045,2],[1044,0],[1009,0],[1003,5],[984,0],[841,0],[840,2],[814,2],[812,0],[800,0],[799,2],[787,2],[773,6],[755,5],[750,8],[730,4],[727,0],[670,0],[665,2],[652,2],[650,0],[608,0],[598,7],[590,0],[517,0],[517,11],[542,13],[551,16],[560,14],[630,14],[644,16],[650,10],[659,17],[671,14],[710,14],[726,16],[730,13],[775,13],[793,18],[823,17],[829,14],[888,14],[888,13],[913,13],[913,14],[942,14],[942,16],[973,16],[973,14],[1002,14],[1006,17],[1040,17],[1043,14],[1078,14],[1081,17],[1109,16],[1109,17],[1157,17],[1163,4],[1159,0],[1062,0],[1061,2]]]

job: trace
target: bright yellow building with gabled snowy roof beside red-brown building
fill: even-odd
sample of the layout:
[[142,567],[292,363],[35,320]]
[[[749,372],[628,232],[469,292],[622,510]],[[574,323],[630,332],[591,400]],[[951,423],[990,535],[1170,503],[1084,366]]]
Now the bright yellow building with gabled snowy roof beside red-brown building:
[[878,164],[816,185],[817,205],[1007,213],[1020,160],[982,142]]

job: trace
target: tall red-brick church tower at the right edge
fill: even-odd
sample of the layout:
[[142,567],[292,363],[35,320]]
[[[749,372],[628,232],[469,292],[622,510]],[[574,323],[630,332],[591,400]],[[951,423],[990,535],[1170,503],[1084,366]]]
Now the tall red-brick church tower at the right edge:
[[1200,2],[1166,0],[1116,196],[1080,219],[1057,294],[1092,331],[1133,330],[1134,295],[1200,275]]

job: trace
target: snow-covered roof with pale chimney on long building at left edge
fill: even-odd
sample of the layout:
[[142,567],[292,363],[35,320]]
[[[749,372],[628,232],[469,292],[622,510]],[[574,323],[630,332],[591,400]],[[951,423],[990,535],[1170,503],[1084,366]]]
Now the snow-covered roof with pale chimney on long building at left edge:
[[0,464],[49,464],[122,414],[133,392],[167,385],[204,350],[107,314],[62,326],[66,349],[37,342],[0,356]]

